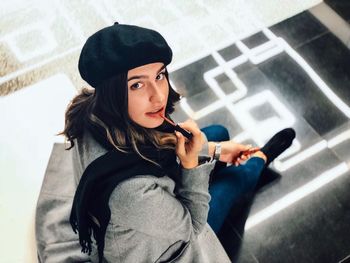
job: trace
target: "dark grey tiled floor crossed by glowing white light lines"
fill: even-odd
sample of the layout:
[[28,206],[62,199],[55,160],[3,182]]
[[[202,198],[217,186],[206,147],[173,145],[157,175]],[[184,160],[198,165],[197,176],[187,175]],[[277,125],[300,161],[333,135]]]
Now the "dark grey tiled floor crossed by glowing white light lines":
[[[347,1],[326,2],[349,21]],[[237,43],[217,50],[226,62],[241,59],[231,73],[208,54],[171,80],[194,112],[206,112],[200,127],[222,124],[231,138],[257,145],[285,126],[297,132],[294,151],[272,167],[280,179],[240,200],[226,221],[220,238],[231,259],[340,262],[350,254],[350,51],[307,11],[269,30],[286,41],[282,52],[254,53],[269,41],[262,31],[241,41],[250,52]],[[265,58],[254,63],[251,54]],[[216,110],[206,108],[213,103]],[[172,117],[188,118],[179,105]],[[249,225],[277,205],[283,209]]]

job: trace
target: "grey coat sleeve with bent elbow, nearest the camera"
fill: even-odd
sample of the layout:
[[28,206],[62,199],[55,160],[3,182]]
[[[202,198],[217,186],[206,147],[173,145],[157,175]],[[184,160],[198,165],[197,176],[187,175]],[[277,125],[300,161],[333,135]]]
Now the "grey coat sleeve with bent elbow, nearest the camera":
[[208,181],[214,164],[182,169],[175,192],[168,184],[157,183],[174,184],[169,177],[139,176],[122,182],[110,198],[111,222],[160,238],[200,234],[207,222]]

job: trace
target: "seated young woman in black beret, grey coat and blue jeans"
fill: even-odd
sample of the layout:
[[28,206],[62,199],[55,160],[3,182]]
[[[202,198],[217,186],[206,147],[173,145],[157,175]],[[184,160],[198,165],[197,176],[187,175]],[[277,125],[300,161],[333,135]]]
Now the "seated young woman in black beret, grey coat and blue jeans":
[[80,54],[94,89],[72,100],[62,134],[77,183],[70,221],[92,262],[229,262],[214,232],[295,137],[285,129],[259,150],[189,119],[180,123],[186,138],[161,116],[171,120],[181,98],[171,59],[158,32],[118,23]]

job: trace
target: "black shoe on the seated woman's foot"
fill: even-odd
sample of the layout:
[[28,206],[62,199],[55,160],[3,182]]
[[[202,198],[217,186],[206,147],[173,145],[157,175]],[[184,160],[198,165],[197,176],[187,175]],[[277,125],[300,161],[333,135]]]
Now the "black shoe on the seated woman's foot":
[[267,161],[265,167],[267,167],[273,160],[275,160],[281,153],[283,153],[295,138],[295,131],[292,128],[286,128],[276,133],[265,145],[260,149],[266,157]]

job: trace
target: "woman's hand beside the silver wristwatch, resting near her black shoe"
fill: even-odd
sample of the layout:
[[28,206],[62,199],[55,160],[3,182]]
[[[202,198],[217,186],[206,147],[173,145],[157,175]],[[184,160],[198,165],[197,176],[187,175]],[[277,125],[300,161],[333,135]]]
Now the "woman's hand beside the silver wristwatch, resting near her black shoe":
[[250,158],[252,154],[259,150],[258,147],[235,143],[233,141],[223,141],[221,143],[220,161],[232,163],[236,166]]

